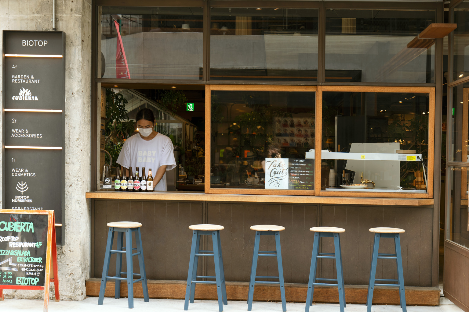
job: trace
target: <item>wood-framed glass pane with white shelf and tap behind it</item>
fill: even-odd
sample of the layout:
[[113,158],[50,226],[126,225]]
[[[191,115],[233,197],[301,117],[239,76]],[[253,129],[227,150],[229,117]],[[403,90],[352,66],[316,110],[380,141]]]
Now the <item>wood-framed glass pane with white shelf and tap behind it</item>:
[[323,92],[322,98],[322,189],[427,192],[429,94]]

